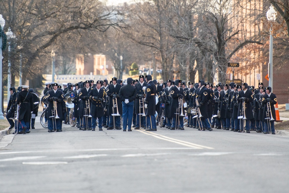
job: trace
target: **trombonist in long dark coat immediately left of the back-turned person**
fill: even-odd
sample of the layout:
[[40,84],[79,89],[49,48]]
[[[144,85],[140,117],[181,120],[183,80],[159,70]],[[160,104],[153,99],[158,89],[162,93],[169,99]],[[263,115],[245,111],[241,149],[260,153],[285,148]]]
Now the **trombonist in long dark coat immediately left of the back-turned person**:
[[[112,130],[114,129],[113,128],[113,117],[112,117],[112,114],[116,114],[117,110],[118,110],[118,113],[120,115],[122,115],[122,105],[121,105],[121,100],[119,99],[119,96],[118,96],[118,93],[119,93],[119,90],[121,89],[121,85],[116,83],[117,81],[117,78],[116,77],[113,77],[112,78],[112,84],[108,85],[108,91],[107,91],[107,95],[109,97],[109,104],[108,104],[108,115],[110,115],[110,121],[109,121],[109,126],[107,128],[107,130]],[[112,107],[113,107],[113,99],[118,99],[117,100],[117,108],[114,107],[113,110],[114,112],[112,111]],[[114,120],[115,120],[115,126],[116,126],[116,129],[118,130],[121,130],[121,116],[114,116]]]

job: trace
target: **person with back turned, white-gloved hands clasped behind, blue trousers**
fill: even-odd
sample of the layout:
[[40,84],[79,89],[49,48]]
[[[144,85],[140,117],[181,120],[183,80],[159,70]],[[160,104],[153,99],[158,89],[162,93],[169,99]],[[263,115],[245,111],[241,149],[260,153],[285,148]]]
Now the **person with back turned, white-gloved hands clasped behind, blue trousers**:
[[133,79],[127,78],[127,85],[121,87],[118,96],[123,105],[123,131],[131,131],[132,117],[134,115],[134,101],[136,100],[136,87],[133,86]]

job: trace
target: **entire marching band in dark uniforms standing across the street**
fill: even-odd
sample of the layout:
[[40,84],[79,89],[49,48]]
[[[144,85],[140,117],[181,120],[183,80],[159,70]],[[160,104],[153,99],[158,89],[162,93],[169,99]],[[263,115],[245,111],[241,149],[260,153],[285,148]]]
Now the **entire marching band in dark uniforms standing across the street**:
[[116,77],[110,84],[108,80],[94,83],[62,83],[62,89],[58,83],[47,82],[41,101],[28,86],[18,87],[18,91],[10,88],[6,118],[10,128],[15,127],[13,134],[34,129],[39,103],[44,108],[40,122],[49,133],[61,132],[64,122],[92,131],[97,126],[99,130],[131,131],[134,127],[156,131],[158,125],[170,130],[184,130],[186,126],[201,131],[216,128],[275,134],[277,98],[262,82],[256,89],[247,83],[218,82],[213,86],[204,80],[159,84],[151,75],[140,75],[138,80],[127,78],[126,85]]

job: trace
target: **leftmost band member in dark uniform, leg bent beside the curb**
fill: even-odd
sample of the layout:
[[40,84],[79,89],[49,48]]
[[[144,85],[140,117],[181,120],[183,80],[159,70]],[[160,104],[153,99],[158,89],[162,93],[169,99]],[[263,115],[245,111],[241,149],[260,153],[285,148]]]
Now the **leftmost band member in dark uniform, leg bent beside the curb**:
[[[6,119],[8,120],[10,127],[9,129],[12,129],[14,127],[14,121],[10,118],[13,118],[15,116],[15,111],[16,111],[16,89],[15,87],[12,87],[9,89],[10,90],[10,98],[9,98],[9,102],[7,105],[7,109],[6,109]],[[16,128],[15,128],[16,129]]]

